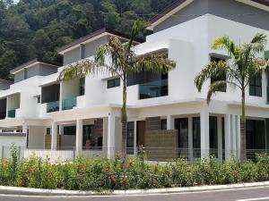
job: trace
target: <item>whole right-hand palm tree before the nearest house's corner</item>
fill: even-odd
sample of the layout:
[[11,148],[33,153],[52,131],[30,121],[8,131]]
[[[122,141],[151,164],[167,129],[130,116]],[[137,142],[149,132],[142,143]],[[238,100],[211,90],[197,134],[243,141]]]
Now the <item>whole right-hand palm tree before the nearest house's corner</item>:
[[268,66],[265,60],[257,57],[257,54],[264,52],[267,39],[265,34],[258,33],[250,43],[242,46],[229,37],[216,38],[213,42],[213,49],[225,49],[230,55],[228,61],[211,62],[195,77],[195,86],[199,92],[206,80],[226,75],[226,80],[219,80],[211,83],[207,93],[207,103],[210,103],[212,96],[218,91],[223,91],[227,85],[239,88],[241,92],[241,125],[240,125],[240,160],[247,160],[246,145],[246,109],[245,91],[250,80],[260,76]]

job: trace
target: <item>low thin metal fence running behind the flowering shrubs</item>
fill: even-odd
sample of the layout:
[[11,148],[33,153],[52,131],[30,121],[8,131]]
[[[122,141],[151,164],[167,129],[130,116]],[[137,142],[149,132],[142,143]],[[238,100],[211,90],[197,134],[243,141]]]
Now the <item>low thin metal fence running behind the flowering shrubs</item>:
[[[131,155],[138,155],[139,148],[127,150],[127,153]],[[140,151],[142,151],[140,149]],[[28,158],[32,155],[41,157],[43,159],[49,159],[52,163],[62,163],[66,161],[74,161],[77,156],[84,158],[106,158],[108,152],[117,154],[118,149],[108,147],[82,147],[82,150],[76,151],[75,147],[60,147],[57,150],[45,149],[44,147],[17,147],[18,159]],[[239,156],[239,150],[227,150],[227,149],[187,149],[187,148],[154,148],[154,147],[143,147],[143,153],[146,155],[148,161],[167,162],[176,160],[178,158],[185,158],[190,162],[194,162],[201,158],[201,155],[208,156],[212,155],[219,161],[224,161],[226,157],[237,157]],[[269,154],[269,150],[265,149],[247,149],[247,159],[256,160],[257,154]],[[11,158],[12,152],[11,147],[2,147],[0,149],[0,157]]]

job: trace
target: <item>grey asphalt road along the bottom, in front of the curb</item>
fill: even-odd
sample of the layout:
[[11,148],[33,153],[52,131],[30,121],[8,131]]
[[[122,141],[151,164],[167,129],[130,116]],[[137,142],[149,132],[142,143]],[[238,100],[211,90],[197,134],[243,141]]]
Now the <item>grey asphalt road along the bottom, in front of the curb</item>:
[[269,187],[215,190],[196,193],[106,196],[106,197],[26,197],[0,195],[0,201],[269,201]]

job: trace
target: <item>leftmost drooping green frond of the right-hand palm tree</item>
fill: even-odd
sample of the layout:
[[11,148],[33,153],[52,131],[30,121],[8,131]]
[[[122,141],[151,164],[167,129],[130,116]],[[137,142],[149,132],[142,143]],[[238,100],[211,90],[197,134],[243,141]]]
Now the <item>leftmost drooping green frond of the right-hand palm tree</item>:
[[195,77],[195,86],[201,92],[204,82],[212,77],[217,77],[228,71],[227,63],[224,61],[211,62]]

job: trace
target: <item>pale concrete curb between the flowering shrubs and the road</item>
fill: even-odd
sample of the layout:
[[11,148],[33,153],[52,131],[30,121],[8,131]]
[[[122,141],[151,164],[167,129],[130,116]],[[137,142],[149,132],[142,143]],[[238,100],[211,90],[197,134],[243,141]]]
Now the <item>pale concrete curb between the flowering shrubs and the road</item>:
[[166,194],[166,193],[187,193],[210,190],[225,190],[232,188],[255,188],[255,187],[269,187],[269,181],[256,183],[240,183],[230,185],[215,185],[215,186],[200,186],[187,188],[152,188],[152,189],[130,189],[130,190],[114,190],[114,191],[80,191],[80,190],[63,190],[63,189],[40,189],[40,188],[21,188],[21,187],[5,187],[0,186],[0,194],[5,195],[24,195],[24,196],[131,196],[143,194]]

